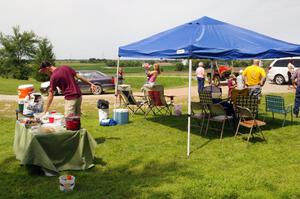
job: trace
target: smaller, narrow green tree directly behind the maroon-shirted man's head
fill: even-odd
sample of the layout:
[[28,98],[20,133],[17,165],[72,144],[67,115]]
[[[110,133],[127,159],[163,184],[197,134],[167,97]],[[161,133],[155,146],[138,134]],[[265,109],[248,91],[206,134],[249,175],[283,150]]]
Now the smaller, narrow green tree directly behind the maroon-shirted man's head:
[[40,64],[42,61],[49,61],[55,65],[55,55],[53,53],[53,45],[47,38],[43,38],[39,41],[36,54],[33,61],[33,77],[37,81],[48,81],[49,76],[39,73]]

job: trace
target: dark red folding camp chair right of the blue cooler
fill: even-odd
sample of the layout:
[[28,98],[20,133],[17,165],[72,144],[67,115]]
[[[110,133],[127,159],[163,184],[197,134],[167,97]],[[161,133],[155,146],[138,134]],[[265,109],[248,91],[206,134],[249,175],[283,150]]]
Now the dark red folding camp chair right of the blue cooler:
[[[148,115],[150,112],[154,115],[157,113],[163,114],[163,111],[172,115],[171,107],[173,106],[174,96],[164,95],[164,87],[162,85],[154,85],[151,88],[144,87],[143,90],[148,103],[148,111],[145,115]],[[169,98],[168,101],[166,101],[166,97]]]

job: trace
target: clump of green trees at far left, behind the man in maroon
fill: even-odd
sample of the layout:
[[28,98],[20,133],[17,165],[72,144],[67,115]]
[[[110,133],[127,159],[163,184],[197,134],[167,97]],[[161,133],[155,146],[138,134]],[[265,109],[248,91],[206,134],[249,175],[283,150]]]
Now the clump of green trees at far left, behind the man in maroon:
[[30,76],[38,81],[49,77],[38,72],[43,60],[55,64],[53,46],[47,38],[37,36],[33,31],[20,31],[13,27],[12,35],[0,32],[0,76],[27,80]]

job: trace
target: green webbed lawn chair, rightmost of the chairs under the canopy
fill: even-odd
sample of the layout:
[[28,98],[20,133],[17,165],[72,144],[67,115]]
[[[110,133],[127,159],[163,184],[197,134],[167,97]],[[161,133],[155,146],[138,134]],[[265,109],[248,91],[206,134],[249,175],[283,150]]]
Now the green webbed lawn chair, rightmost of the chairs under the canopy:
[[288,113],[291,113],[291,124],[293,124],[293,105],[288,106],[284,105],[284,98],[282,96],[276,95],[266,95],[266,112],[272,112],[273,120],[274,113],[279,113],[284,115],[284,120],[282,126],[285,124],[286,116]]

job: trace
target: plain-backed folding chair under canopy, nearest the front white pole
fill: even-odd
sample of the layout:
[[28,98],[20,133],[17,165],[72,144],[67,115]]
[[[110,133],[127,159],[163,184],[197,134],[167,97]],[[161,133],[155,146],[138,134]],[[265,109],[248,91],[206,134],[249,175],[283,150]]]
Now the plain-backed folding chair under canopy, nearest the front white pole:
[[[208,120],[207,120],[205,135],[207,134],[207,131],[209,128],[209,123],[210,122],[218,122],[218,123],[222,123],[221,136],[220,136],[220,139],[222,139],[225,123],[226,123],[226,121],[229,122],[229,120],[232,119],[232,116],[228,116],[226,114],[224,107],[221,104],[209,104],[208,109],[209,109],[209,116],[208,116]],[[230,122],[229,122],[229,124],[230,124]],[[210,129],[216,129],[216,128],[210,128]],[[216,129],[216,130],[220,130],[220,129]]]

